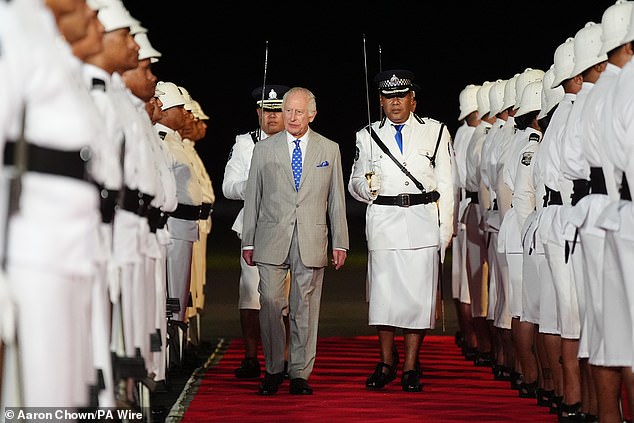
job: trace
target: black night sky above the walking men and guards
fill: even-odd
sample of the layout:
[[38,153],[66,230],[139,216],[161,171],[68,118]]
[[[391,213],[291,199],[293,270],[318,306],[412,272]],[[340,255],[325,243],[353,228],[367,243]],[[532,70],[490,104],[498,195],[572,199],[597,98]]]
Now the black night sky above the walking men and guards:
[[347,178],[355,132],[368,122],[364,34],[372,120],[379,116],[374,74],[380,66],[407,68],[422,86],[417,113],[453,134],[465,85],[508,79],[526,67],[547,70],[557,46],[586,22],[600,22],[614,1],[124,3],[163,54],[154,73],[187,88],[211,117],[197,149],[222,201],[235,135],[257,126],[251,90],[263,82],[267,41],[266,81],[315,93],[312,128],[339,143]]

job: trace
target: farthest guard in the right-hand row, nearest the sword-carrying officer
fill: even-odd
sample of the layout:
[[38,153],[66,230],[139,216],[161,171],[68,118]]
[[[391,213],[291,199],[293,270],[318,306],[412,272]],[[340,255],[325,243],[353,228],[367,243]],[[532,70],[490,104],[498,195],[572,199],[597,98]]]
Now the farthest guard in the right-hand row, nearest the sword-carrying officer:
[[458,322],[460,327],[461,340],[459,343],[465,356],[468,355],[470,360],[475,358],[477,339],[473,328],[473,318],[471,316],[471,296],[469,295],[469,281],[467,279],[467,262],[466,262],[466,226],[462,222],[462,215],[465,208],[469,204],[466,198],[465,190],[465,173],[467,161],[465,159],[466,148],[469,140],[480,124],[480,115],[478,114],[477,92],[480,85],[469,84],[462,89],[458,96],[460,105],[460,114],[458,120],[462,121],[462,125],[458,127],[453,137],[454,161],[454,187],[456,190],[456,198],[454,205],[454,221],[456,228],[454,239],[451,244],[452,260],[452,286],[451,292],[456,305]]

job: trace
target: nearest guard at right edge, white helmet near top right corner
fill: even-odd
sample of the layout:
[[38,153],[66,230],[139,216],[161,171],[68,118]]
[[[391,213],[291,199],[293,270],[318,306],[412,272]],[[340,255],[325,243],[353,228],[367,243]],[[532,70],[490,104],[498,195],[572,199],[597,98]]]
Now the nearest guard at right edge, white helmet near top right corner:
[[[583,167],[587,166],[590,169],[590,192],[595,195],[584,198],[575,206],[573,213],[575,216],[572,217],[572,220],[575,220],[575,217],[577,218],[576,222],[583,219],[583,225],[581,227],[577,225],[579,237],[582,244],[585,242],[586,246],[592,245],[593,249],[594,244],[589,242],[594,242],[594,238],[597,237],[605,238],[605,230],[596,224],[596,214],[603,213],[608,204],[618,201],[620,197],[621,178],[620,175],[615,175],[614,164],[610,160],[604,159],[606,157],[604,146],[608,134],[606,127],[611,124],[613,119],[613,87],[622,67],[631,60],[633,54],[632,40],[625,39],[631,25],[632,5],[634,3],[631,1],[619,0],[603,13],[599,54],[607,55],[607,62],[604,65],[605,70],[600,73],[594,88],[587,95],[580,121],[580,145],[578,148],[581,150],[580,157],[584,161]],[[581,173],[579,173],[579,177],[581,177]],[[597,180],[602,182],[597,184]],[[600,186],[601,183],[604,186]],[[602,244],[597,245],[605,245],[605,239],[600,242]],[[601,298],[603,300],[603,320],[599,323],[598,332],[602,336],[604,359],[602,362],[598,362],[593,360],[591,356],[590,362],[595,366],[601,365],[601,373],[620,373],[623,383],[630,391],[634,375],[631,371],[631,354],[625,352],[632,350],[630,321],[623,319],[623,316],[627,315],[627,310],[630,309],[630,305],[626,301],[626,285],[622,278],[616,276],[618,273],[615,275],[612,269],[606,268],[608,265],[614,267],[615,264],[618,264],[612,257],[608,258],[610,261],[608,263],[605,261],[604,255],[596,254],[594,250],[592,254],[588,250],[582,249],[583,251],[585,251],[583,256],[589,270],[588,276],[592,277],[596,274],[599,277],[597,285],[602,290]],[[600,251],[605,252],[606,250]],[[586,255],[592,257],[586,257]],[[616,322],[620,323],[616,324]],[[617,380],[618,378],[611,377],[611,379]],[[604,386],[604,388],[600,394],[611,396],[610,409],[616,413],[618,409],[614,409],[614,405],[615,402],[616,405],[619,405],[618,401],[621,398],[622,389],[617,387],[616,383],[611,383],[610,386]],[[600,411],[599,419],[609,421],[612,416],[616,417],[617,414],[610,414],[608,417]]]

